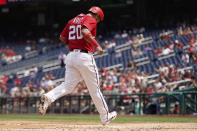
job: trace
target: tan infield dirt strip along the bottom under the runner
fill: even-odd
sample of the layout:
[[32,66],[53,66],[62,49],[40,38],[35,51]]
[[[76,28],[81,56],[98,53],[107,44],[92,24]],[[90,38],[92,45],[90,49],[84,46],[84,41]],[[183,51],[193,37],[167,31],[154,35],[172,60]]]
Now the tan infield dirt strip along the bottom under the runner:
[[197,131],[197,123],[111,123],[0,121],[0,131]]

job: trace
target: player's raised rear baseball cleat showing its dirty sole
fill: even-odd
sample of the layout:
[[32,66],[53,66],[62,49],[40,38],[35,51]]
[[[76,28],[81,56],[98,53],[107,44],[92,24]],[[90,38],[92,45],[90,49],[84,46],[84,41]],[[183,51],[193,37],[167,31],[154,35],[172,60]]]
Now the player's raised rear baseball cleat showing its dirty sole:
[[41,104],[39,105],[39,112],[41,115],[44,116],[46,114],[47,108],[50,104],[51,102],[49,101],[49,99],[45,95],[42,95]]

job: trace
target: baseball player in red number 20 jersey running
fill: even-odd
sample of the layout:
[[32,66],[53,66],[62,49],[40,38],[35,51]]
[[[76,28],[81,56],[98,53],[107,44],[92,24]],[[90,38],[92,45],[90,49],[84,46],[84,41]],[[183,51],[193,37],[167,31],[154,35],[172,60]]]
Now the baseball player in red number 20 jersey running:
[[58,98],[72,93],[76,85],[84,80],[90,96],[100,114],[101,123],[108,124],[117,116],[115,111],[109,112],[108,106],[99,87],[99,75],[94,60],[94,48],[101,55],[103,50],[95,40],[97,23],[104,18],[99,7],[92,7],[88,14],[79,14],[71,19],[63,29],[60,40],[69,44],[66,57],[65,80],[61,85],[41,96],[42,104],[39,112],[45,115],[48,106]]

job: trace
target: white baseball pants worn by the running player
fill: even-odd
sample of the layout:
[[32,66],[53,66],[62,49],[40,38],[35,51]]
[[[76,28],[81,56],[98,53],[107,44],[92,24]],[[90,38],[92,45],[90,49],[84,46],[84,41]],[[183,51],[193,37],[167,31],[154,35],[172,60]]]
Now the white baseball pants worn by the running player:
[[93,55],[76,49],[67,55],[65,63],[64,82],[46,93],[47,98],[54,102],[58,98],[72,93],[76,85],[84,80],[101,120],[107,119],[108,106],[100,91],[99,75]]

